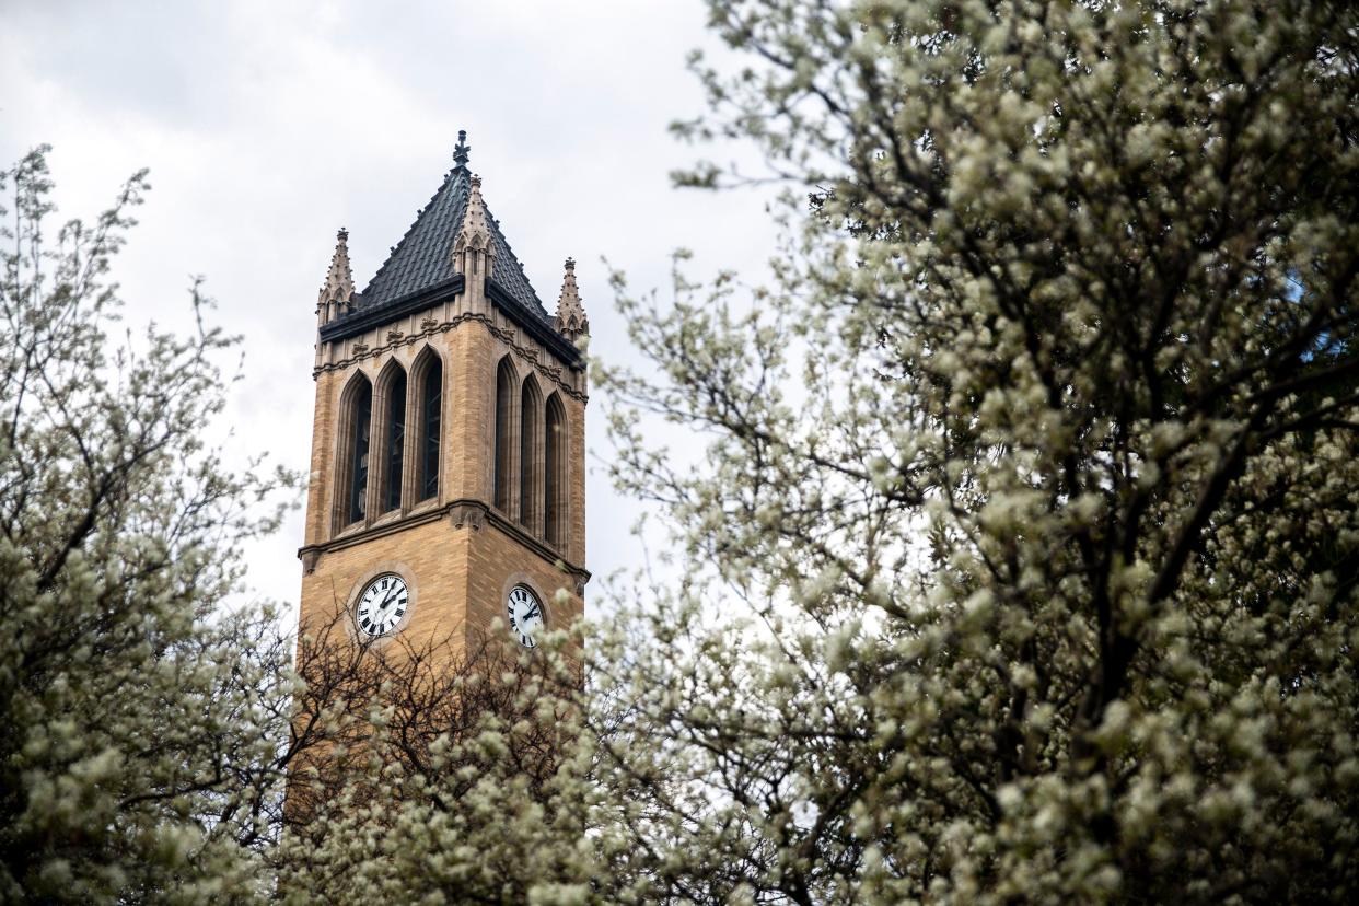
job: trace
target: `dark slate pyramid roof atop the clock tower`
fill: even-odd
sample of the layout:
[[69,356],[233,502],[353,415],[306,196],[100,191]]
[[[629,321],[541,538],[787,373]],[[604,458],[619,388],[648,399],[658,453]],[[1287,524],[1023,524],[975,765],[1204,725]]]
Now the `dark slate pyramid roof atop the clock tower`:
[[[355,314],[453,280],[457,273],[453,269],[453,243],[462,227],[470,190],[472,174],[466,167],[457,166],[448,171],[443,185],[434,193],[429,204],[416,215],[416,221],[378,268],[368,287],[355,297]],[[506,295],[518,303],[525,314],[552,323],[489,206],[487,206],[487,220],[491,227],[491,242],[496,247],[496,264],[491,280],[500,284]]]

